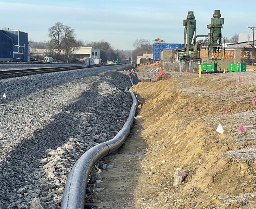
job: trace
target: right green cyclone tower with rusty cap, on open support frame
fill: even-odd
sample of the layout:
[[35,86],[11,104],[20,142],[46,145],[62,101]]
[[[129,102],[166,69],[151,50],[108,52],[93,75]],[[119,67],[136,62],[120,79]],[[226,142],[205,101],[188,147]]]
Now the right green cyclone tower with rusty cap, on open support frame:
[[208,54],[211,63],[216,63],[218,69],[221,70],[222,60],[222,25],[224,24],[224,18],[221,18],[220,10],[214,10],[211,24],[207,25],[210,29],[208,34]]

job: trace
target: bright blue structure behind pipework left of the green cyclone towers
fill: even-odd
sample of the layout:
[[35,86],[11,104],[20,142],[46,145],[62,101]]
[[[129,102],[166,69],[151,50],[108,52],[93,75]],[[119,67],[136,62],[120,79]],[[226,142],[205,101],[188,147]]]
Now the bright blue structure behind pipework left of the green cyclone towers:
[[155,43],[153,44],[153,60],[161,60],[161,51],[163,49],[180,49],[184,48],[184,44],[166,44],[166,43]]

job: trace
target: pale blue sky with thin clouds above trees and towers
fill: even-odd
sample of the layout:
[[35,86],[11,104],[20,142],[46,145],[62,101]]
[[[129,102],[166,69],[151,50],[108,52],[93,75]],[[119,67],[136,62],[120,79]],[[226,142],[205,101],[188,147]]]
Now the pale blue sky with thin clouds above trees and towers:
[[225,18],[223,36],[248,32],[248,26],[256,26],[255,8],[255,0],[0,0],[0,27],[27,32],[40,42],[49,40],[48,28],[62,22],[74,29],[78,40],[103,39],[114,48],[131,50],[137,38],[183,43],[188,11],[194,11],[197,35],[208,34],[214,10]]

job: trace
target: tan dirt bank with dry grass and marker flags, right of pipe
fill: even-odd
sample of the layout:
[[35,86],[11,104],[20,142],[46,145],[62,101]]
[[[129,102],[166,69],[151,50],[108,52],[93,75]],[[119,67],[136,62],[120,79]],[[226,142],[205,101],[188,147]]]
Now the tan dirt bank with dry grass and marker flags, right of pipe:
[[[124,145],[104,158],[114,168],[101,173],[99,208],[256,208],[255,72],[140,82],[132,91],[142,106]],[[189,175],[174,187],[176,170]]]

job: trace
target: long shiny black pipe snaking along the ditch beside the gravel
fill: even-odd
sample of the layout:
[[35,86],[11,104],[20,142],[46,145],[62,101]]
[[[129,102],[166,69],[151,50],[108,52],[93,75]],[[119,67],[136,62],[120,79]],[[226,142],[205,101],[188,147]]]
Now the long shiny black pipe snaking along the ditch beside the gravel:
[[[128,72],[128,75],[131,80],[130,72]],[[129,135],[138,102],[134,93],[132,91],[128,91],[128,87],[126,87],[124,93],[130,93],[133,100],[126,123],[113,139],[90,148],[76,161],[66,182],[61,209],[84,209],[86,185],[92,167],[102,157],[105,157],[121,147],[126,137]]]

